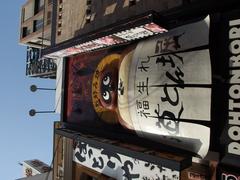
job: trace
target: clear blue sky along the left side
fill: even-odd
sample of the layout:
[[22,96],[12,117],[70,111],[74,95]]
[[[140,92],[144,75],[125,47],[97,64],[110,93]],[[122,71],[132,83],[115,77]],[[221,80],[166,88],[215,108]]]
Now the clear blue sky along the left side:
[[31,108],[54,109],[54,91],[30,92],[29,86],[55,87],[55,80],[25,76],[26,47],[18,44],[21,5],[26,0],[2,1],[0,6],[0,179],[22,177],[18,162],[52,160],[53,121],[58,115],[37,114]]

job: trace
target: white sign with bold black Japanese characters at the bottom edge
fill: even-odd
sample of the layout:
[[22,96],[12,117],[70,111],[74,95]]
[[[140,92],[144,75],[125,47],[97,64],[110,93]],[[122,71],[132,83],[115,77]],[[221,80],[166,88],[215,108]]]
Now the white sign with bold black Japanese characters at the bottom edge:
[[164,167],[161,162],[153,164],[81,140],[73,150],[73,161],[117,180],[180,179],[179,171]]

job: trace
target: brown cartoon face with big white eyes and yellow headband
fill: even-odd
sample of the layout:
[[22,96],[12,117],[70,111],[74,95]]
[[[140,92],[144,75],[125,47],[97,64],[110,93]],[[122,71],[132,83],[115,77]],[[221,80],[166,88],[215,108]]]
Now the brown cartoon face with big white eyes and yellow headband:
[[92,99],[94,109],[103,121],[110,124],[118,122],[116,109],[120,59],[119,54],[104,57],[93,75]]

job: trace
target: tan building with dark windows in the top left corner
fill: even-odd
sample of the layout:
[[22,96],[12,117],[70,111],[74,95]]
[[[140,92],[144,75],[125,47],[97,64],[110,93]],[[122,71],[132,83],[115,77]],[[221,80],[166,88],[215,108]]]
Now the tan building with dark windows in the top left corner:
[[51,45],[52,1],[46,2],[29,0],[22,6],[21,44],[37,48]]

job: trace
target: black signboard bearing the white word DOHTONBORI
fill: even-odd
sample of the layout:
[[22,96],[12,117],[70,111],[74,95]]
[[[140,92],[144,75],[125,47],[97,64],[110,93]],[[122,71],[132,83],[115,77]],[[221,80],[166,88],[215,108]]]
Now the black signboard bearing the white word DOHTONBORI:
[[240,10],[215,16],[211,33],[216,82],[212,116],[219,128],[213,135],[217,141],[220,137],[222,161],[237,166],[240,160]]

